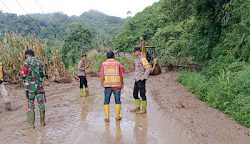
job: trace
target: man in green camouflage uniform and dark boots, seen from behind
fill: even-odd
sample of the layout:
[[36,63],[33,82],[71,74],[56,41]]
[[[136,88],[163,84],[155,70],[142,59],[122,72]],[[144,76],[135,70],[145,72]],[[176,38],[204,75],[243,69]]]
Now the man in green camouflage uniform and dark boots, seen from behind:
[[35,98],[40,109],[40,124],[45,126],[45,91],[42,78],[45,78],[44,64],[35,58],[33,50],[25,51],[25,61],[22,66],[21,76],[25,81],[25,90],[28,98],[28,123],[29,128],[34,128],[35,125]]

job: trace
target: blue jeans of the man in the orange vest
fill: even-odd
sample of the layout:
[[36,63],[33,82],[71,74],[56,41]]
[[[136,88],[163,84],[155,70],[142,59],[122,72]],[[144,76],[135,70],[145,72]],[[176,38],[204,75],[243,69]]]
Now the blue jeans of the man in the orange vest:
[[115,104],[121,104],[121,89],[120,88],[110,88],[106,87],[104,90],[104,104],[109,104],[110,103],[110,98],[112,93],[115,96]]

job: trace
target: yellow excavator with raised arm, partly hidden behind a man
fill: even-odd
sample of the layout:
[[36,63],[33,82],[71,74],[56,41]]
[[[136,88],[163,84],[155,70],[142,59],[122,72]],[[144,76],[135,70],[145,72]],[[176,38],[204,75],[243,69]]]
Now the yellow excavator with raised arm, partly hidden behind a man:
[[155,46],[146,46],[144,36],[142,35],[140,38],[140,46],[136,46],[141,48],[142,56],[148,60],[148,62],[152,66],[151,75],[159,75],[161,73],[161,67],[157,58],[157,52],[155,50]]

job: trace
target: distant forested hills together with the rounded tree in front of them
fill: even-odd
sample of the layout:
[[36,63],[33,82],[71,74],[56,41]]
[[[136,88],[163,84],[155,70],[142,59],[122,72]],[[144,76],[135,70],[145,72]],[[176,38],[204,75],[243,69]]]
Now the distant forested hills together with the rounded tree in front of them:
[[53,51],[59,50],[65,66],[74,69],[81,54],[92,48],[111,47],[125,20],[95,10],[71,17],[59,12],[21,16],[0,12],[0,39],[6,33],[40,38],[48,46],[49,60]]

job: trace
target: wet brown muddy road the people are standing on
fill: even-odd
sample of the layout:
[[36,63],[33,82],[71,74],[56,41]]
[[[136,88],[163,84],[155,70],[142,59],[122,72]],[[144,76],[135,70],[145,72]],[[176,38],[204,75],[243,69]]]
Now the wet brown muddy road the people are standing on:
[[148,113],[129,109],[133,79],[125,76],[121,122],[104,122],[103,89],[99,78],[89,78],[91,96],[79,97],[78,83],[46,87],[46,122],[40,127],[36,104],[36,128],[27,129],[26,99],[22,90],[9,89],[12,111],[0,101],[1,144],[250,144],[250,129],[209,108],[176,82],[177,73],[150,77],[147,81]]

